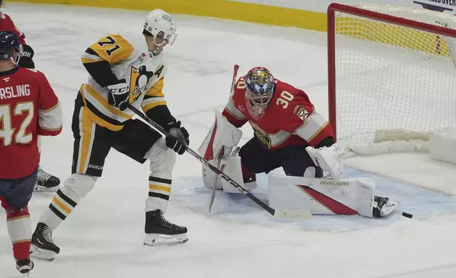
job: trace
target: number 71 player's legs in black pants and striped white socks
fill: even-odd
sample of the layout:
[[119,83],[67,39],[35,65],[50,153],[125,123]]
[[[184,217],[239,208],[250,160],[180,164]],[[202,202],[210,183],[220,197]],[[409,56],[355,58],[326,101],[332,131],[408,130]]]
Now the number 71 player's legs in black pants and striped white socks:
[[[161,134],[139,120],[125,122],[121,130],[109,130],[91,121],[87,112],[79,94],[72,121],[72,176],[57,191],[49,209],[40,217],[40,222],[55,230],[69,216],[79,201],[93,189],[98,177],[101,177],[111,148],[141,164],[150,160],[149,196],[145,211],[166,211],[176,154],[166,147]],[[127,169],[122,169],[122,172],[125,171]]]

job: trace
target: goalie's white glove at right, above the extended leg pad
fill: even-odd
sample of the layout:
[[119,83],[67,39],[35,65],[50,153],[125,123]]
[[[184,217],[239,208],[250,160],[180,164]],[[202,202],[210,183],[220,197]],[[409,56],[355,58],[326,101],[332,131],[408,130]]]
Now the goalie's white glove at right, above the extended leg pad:
[[331,177],[338,181],[341,179],[343,171],[342,150],[336,144],[331,147],[314,149],[306,148],[312,161],[323,171],[328,171]]

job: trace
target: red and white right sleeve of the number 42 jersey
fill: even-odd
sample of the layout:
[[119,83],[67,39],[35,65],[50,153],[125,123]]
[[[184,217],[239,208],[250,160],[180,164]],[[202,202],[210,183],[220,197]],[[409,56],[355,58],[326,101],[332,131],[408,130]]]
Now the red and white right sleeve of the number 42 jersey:
[[40,74],[38,135],[55,136],[62,132],[62,106],[44,74]]

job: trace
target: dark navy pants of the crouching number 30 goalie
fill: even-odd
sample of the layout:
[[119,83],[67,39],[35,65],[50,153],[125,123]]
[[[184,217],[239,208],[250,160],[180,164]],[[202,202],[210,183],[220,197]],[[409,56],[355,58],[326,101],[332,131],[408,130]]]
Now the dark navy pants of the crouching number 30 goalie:
[[242,163],[244,179],[253,174],[271,172],[282,167],[289,176],[303,177],[309,167],[315,169],[315,177],[322,177],[323,171],[315,166],[306,151],[307,145],[290,145],[278,150],[268,150],[260,141],[253,137],[241,147],[239,156]]

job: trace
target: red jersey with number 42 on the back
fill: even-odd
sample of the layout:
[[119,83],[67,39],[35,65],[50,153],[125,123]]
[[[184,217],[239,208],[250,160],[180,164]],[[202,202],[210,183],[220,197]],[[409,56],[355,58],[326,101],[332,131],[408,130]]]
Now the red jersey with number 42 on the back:
[[19,67],[0,73],[0,179],[32,174],[38,135],[61,131],[62,109],[45,74]]

